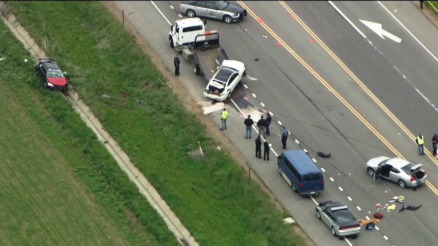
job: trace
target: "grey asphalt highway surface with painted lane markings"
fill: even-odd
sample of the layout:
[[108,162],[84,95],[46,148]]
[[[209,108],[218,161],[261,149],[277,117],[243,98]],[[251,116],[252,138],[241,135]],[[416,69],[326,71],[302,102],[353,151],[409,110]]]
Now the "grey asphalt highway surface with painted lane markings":
[[[180,18],[180,2],[115,3],[172,70],[176,51],[169,46],[167,20]],[[430,138],[438,132],[437,28],[409,1],[333,2],[338,10],[323,1],[238,3],[248,10],[243,21],[207,20],[207,29],[218,30],[230,59],[247,68],[249,76],[226,102],[229,120],[224,134],[253,170],[317,245],[436,245],[438,162],[419,156],[414,138],[422,132],[430,151]],[[385,39],[361,20],[382,24]],[[206,109],[214,107],[202,95],[206,81],[192,67],[182,59],[181,83],[193,100]],[[210,114],[218,126],[220,109]],[[312,198],[293,193],[278,174],[275,153],[269,162],[254,157],[254,137],[244,138],[243,119],[251,114],[258,120],[267,112],[275,122],[267,138],[274,152],[281,153],[284,125],[291,132],[288,149],[305,148],[323,170],[323,193]],[[332,155],[319,158],[316,151]],[[373,181],[365,162],[377,156],[423,163],[428,184],[414,190]],[[357,218],[372,217],[377,212],[374,205],[385,206],[392,195],[404,195],[406,205],[422,207],[403,212],[397,212],[400,205],[395,211],[380,209],[384,218],[378,228],[362,228],[355,239],[333,237],[315,216],[315,202],[332,200],[348,205]]]

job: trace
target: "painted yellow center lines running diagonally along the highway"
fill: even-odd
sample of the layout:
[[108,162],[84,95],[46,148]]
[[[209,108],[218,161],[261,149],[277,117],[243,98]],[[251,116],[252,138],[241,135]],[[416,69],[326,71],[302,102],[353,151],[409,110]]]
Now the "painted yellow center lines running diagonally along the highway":
[[[365,120],[365,118],[359,114],[359,112],[356,111],[356,109],[351,106],[347,100],[345,100],[334,88],[332,88],[327,81],[324,80],[315,70],[313,70],[312,67],[310,67],[307,62],[301,58],[297,53],[295,53],[294,50],[286,43],[284,42],[266,23],[262,21],[261,18],[259,18],[256,13],[254,13],[243,1],[237,1],[240,5],[242,5],[246,11],[270,34],[272,35],[279,44],[281,44],[292,56],[299,62],[301,65],[303,65],[304,68],[306,68],[325,88],[327,88],[339,101],[342,102],[362,123],[365,124],[365,126],[378,138],[380,139],[384,145],[386,145],[397,157],[405,159],[402,154],[394,147],[392,144],[387,141],[368,121]],[[298,15],[295,14],[295,12],[292,11],[292,9],[284,2],[279,1],[280,5],[283,6],[283,8],[286,9],[286,11],[291,14],[294,19],[312,36],[313,39],[315,39],[321,47],[329,53],[329,55],[338,63],[339,66],[341,66],[342,69],[344,69],[347,74],[365,91],[365,93],[374,101],[377,105],[379,105],[383,111],[400,127],[402,128],[402,131],[406,133],[408,137],[410,137],[413,141],[415,141],[415,136],[412,134],[406,126],[404,126],[397,117],[394,116],[394,114],[389,111],[389,109],[383,105],[383,103],[365,86],[365,84],[357,78],[357,76],[339,59],[328,47],[327,45],[304,23],[301,18],[298,17]],[[435,158],[431,157],[431,153],[426,149],[427,156],[438,166],[438,161]],[[435,186],[432,185],[429,181],[426,180],[425,184],[436,194],[438,195],[438,190],[435,188]]]

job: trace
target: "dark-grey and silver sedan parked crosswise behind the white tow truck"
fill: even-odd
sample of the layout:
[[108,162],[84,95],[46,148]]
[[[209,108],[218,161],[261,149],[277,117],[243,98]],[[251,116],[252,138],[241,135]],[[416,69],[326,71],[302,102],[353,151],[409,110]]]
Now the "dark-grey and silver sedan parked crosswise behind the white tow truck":
[[181,1],[180,11],[188,17],[206,17],[235,22],[246,16],[246,9],[227,1]]

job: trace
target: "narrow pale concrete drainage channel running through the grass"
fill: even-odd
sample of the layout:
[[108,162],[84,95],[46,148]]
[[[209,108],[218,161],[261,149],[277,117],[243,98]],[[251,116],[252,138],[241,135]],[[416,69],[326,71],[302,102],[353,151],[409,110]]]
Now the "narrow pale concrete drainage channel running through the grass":
[[[0,13],[3,22],[35,59],[47,57],[44,51],[38,47],[35,40],[21,26],[17,18],[9,11],[4,1],[0,1]],[[81,119],[93,130],[99,141],[105,145],[117,161],[119,167],[128,175],[129,180],[135,183],[139,192],[146,196],[150,205],[161,215],[167,227],[173,232],[178,241],[184,246],[198,246],[198,243],[190,235],[187,228],[184,227],[175,213],[170,210],[169,206],[149,181],[147,181],[146,177],[132,164],[128,155],[120,148],[119,144],[103,129],[102,124],[94,117],[90,108],[79,99],[79,95],[71,86],[69,86],[64,96]]]

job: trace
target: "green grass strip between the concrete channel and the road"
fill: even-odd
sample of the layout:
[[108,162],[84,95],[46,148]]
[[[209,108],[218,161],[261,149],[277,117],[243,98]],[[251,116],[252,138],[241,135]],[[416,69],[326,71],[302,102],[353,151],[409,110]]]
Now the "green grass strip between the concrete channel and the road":
[[[204,127],[184,111],[163,75],[102,3],[9,3],[40,47],[70,73],[76,91],[201,245],[303,245],[291,226],[283,224],[287,214],[276,210],[231,158],[215,150]],[[142,104],[134,105],[136,100]],[[63,128],[77,132],[72,136],[76,148],[87,157],[95,154],[83,147],[91,137],[71,123],[77,116],[65,107],[46,107]],[[187,154],[198,141],[207,159]],[[95,158],[90,158],[93,164],[102,166]],[[138,220],[147,223],[130,198],[135,194],[118,184],[125,177],[106,168],[100,172]]]

